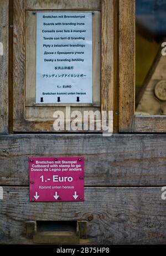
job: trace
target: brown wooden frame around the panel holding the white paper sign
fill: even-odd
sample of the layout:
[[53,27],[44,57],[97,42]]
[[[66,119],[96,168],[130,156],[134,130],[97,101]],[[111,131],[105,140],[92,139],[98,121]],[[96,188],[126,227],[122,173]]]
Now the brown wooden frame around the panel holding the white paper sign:
[[[96,7],[96,2],[98,6]],[[54,1],[52,10],[101,11],[101,110],[113,111],[113,32],[115,0]],[[25,116],[25,11],[46,11],[46,1],[14,0],[13,17],[13,131],[55,132],[54,120],[33,120]],[[81,6],[81,7],[80,7]],[[79,8],[80,7],[80,8]],[[94,7],[94,8],[93,8]],[[62,131],[60,131],[62,132]],[[82,131],[78,131],[82,132]]]

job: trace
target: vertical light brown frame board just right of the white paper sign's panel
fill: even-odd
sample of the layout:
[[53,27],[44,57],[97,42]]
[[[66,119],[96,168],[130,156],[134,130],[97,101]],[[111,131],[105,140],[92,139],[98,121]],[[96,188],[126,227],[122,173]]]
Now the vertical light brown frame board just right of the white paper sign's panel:
[[114,1],[101,2],[101,110],[113,111]]

